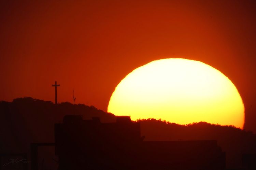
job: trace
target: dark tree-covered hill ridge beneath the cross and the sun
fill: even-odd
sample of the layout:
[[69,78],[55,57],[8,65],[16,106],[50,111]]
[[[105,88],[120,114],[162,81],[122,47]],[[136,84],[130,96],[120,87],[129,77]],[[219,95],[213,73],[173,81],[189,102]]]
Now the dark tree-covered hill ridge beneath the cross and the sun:
[[[0,152],[29,153],[30,143],[54,142],[54,123],[65,115],[73,114],[73,105],[65,102],[55,105],[30,97],[12,102],[0,102]],[[75,105],[75,114],[83,119],[100,117],[102,122],[114,122],[115,116],[94,106]],[[162,120],[138,120],[144,141],[217,140],[226,152],[227,168],[242,167],[242,154],[256,153],[256,135],[233,126],[221,126],[206,122],[179,125]]]

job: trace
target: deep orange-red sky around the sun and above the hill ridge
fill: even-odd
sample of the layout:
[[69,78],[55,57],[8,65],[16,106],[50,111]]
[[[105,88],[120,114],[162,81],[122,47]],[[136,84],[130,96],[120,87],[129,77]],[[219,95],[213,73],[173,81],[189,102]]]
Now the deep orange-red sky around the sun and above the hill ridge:
[[0,100],[33,97],[107,111],[117,84],[151,61],[182,57],[218,69],[256,133],[254,1],[0,2]]

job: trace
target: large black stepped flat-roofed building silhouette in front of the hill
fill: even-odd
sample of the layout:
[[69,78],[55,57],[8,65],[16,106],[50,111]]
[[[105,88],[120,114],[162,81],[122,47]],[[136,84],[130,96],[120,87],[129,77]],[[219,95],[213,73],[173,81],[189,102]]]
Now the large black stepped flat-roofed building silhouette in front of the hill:
[[216,140],[143,139],[140,123],[129,116],[102,123],[98,117],[66,115],[55,124],[58,169],[225,169],[225,153]]

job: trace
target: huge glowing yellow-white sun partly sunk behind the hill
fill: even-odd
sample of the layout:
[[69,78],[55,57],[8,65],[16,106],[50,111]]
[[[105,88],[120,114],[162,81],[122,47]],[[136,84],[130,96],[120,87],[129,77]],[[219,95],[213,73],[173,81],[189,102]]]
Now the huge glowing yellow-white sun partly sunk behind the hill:
[[199,61],[167,58],[129,73],[115,88],[108,112],[132,120],[208,122],[243,128],[244,105],[234,84]]

